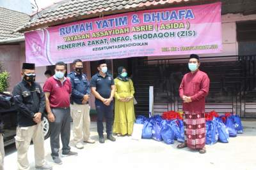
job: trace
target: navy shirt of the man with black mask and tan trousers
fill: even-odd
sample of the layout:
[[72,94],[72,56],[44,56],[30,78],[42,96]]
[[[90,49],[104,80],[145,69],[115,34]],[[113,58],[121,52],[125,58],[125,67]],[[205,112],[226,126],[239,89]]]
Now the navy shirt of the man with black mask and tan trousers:
[[76,104],[82,104],[84,95],[90,95],[90,82],[88,81],[86,74],[77,74],[75,71],[68,73],[72,84],[72,102]]

